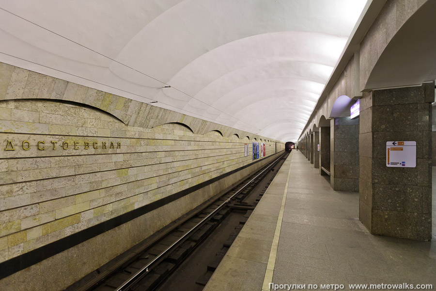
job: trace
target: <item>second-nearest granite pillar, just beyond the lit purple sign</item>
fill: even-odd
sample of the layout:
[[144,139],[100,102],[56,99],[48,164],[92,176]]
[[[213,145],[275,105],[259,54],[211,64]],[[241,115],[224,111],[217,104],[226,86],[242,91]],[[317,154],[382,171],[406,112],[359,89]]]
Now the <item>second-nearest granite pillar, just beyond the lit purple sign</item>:
[[330,127],[330,185],[333,190],[359,191],[359,118],[335,117]]

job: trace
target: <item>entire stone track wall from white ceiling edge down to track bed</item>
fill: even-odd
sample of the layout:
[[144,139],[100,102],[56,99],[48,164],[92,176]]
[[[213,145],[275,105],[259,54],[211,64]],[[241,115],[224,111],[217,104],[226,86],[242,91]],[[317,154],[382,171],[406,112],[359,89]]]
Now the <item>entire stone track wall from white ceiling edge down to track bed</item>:
[[[257,163],[254,138],[266,144]],[[0,289],[67,287],[271,160],[276,143],[0,63],[0,266],[23,270]]]

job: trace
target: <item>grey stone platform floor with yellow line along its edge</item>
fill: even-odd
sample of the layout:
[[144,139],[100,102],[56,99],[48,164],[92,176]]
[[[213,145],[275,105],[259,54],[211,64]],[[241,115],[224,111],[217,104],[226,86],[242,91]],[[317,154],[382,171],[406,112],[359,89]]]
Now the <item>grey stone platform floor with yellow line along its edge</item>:
[[358,193],[333,191],[293,151],[203,290],[270,290],[271,282],[306,284],[304,290],[382,283],[435,289],[435,204],[433,191],[431,242],[372,235],[358,220]]

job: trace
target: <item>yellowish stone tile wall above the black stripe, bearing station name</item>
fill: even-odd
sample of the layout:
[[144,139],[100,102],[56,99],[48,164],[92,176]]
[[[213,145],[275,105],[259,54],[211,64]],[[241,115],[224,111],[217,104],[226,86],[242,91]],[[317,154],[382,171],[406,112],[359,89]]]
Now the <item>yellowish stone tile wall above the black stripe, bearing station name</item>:
[[0,63],[0,262],[275,153],[180,115]]

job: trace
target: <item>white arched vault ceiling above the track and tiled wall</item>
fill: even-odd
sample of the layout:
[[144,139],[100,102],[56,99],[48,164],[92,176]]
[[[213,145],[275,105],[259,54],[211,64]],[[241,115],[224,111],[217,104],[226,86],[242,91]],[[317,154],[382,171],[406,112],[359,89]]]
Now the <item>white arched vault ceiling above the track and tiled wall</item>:
[[0,0],[0,61],[295,141],[365,2]]

